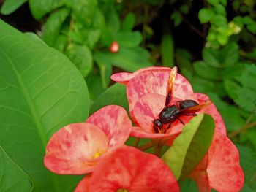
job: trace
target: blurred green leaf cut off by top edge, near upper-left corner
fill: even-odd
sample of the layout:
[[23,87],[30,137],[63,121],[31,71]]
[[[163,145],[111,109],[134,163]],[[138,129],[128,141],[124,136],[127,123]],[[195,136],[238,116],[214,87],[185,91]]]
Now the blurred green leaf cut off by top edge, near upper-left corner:
[[64,0],[29,0],[31,13],[37,20],[62,5],[64,5]]

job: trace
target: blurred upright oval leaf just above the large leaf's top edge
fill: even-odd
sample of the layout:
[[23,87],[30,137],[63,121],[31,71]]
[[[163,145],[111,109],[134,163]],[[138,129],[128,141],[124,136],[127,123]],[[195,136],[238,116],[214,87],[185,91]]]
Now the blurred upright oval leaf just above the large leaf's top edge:
[[69,15],[69,9],[62,8],[50,15],[45,23],[42,39],[51,47],[56,42],[61,26]]

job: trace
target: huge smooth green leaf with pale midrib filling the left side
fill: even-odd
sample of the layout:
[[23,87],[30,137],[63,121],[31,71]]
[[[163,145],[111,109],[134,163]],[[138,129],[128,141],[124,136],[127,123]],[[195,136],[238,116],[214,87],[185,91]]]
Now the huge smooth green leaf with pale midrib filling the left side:
[[0,145],[34,191],[72,191],[79,178],[49,172],[43,157],[53,133],[87,118],[86,82],[66,56],[1,20],[0,37]]

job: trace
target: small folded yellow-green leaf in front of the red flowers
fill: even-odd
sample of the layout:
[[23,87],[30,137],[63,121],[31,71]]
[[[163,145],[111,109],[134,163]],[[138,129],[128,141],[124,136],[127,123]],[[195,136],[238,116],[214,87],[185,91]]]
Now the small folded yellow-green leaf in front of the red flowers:
[[209,115],[197,115],[184,126],[162,160],[170,167],[176,180],[184,179],[206,155],[214,135],[214,120]]

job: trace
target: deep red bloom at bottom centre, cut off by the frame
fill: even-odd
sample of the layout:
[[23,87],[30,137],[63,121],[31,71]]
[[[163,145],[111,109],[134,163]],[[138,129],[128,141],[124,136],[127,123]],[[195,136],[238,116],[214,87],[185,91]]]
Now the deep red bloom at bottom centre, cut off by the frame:
[[165,192],[179,191],[179,186],[160,158],[124,146],[110,153],[80,181],[75,192],[82,191]]

